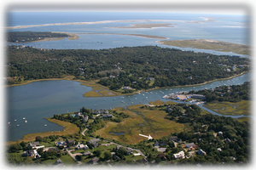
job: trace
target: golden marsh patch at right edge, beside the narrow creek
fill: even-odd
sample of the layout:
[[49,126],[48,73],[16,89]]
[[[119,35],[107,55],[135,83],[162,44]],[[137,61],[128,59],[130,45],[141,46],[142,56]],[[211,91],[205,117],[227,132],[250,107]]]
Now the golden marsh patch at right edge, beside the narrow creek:
[[222,115],[250,115],[251,113],[251,101],[249,100],[241,100],[236,103],[212,101],[204,106]]

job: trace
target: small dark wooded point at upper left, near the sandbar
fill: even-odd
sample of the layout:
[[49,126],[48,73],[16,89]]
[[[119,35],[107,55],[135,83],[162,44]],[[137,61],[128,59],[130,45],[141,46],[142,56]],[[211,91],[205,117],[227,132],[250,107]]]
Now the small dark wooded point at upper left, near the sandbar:
[[35,32],[35,31],[9,31],[7,42],[34,42],[44,40],[45,37],[68,37],[66,33]]

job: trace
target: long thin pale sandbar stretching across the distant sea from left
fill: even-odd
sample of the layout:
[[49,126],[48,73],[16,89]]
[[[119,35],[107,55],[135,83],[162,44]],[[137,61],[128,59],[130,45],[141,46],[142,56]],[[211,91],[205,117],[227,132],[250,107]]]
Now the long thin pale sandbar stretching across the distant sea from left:
[[96,22],[69,22],[69,23],[55,23],[55,24],[44,24],[44,25],[30,25],[30,26],[7,26],[5,29],[20,29],[20,28],[28,28],[28,27],[36,27],[36,26],[66,26],[66,25],[89,25],[89,24],[106,24],[106,23],[114,23],[114,22],[163,22],[163,21],[174,21],[174,20],[102,20]]

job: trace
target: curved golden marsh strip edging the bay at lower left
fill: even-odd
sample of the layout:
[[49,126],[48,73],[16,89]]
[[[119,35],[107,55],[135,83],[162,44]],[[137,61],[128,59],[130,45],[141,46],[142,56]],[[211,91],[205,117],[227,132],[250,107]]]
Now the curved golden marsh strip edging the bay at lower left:
[[23,139],[17,140],[17,141],[9,141],[7,144],[17,144],[21,141],[29,142],[36,139],[37,136],[41,136],[44,138],[45,136],[49,135],[67,135],[67,134],[73,134],[73,133],[79,133],[79,127],[77,127],[75,124],[70,122],[64,122],[56,119],[46,118],[49,122],[56,123],[60,125],[61,127],[64,127],[63,131],[55,131],[55,132],[44,132],[44,133],[30,133],[26,134]]

